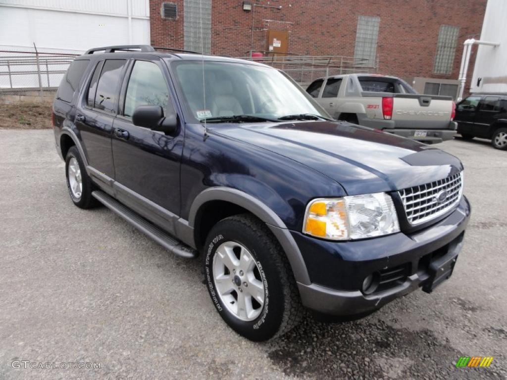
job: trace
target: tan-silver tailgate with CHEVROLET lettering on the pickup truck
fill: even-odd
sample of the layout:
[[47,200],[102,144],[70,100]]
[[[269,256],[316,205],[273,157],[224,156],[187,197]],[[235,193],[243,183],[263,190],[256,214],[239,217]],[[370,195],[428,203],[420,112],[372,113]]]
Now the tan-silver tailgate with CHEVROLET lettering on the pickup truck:
[[447,129],[451,121],[452,98],[449,96],[392,94],[392,120],[396,127]]

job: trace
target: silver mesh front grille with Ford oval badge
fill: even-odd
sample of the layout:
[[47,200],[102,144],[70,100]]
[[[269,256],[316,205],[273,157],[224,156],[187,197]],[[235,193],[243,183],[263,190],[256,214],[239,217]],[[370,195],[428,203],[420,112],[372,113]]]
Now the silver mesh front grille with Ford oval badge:
[[[410,224],[434,219],[455,207],[463,190],[463,172],[399,191]],[[445,193],[446,192],[446,193]]]

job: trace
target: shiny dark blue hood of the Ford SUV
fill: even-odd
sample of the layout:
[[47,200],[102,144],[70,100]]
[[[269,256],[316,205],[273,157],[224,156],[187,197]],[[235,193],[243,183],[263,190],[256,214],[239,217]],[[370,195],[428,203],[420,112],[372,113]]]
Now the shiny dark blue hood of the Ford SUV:
[[463,168],[456,157],[440,149],[349,123],[208,124],[208,128],[317,170],[349,195],[399,190]]

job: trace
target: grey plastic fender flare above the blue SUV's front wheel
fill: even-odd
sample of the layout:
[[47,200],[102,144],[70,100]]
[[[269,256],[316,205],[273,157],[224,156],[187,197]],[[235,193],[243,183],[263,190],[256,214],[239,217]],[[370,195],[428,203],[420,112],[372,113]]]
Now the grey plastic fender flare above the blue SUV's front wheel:
[[194,199],[190,207],[189,226],[192,229],[195,226],[197,212],[202,205],[210,201],[226,201],[233,203],[248,210],[265,222],[283,248],[296,281],[306,285],[311,284],[303,255],[292,237],[291,232],[287,229],[287,226],[280,217],[266,204],[235,188],[225,186],[207,188]]

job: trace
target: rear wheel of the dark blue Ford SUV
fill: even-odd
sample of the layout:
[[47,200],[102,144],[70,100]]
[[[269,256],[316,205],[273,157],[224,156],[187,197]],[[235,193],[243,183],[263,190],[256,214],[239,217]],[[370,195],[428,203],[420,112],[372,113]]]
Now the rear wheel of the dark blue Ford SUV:
[[65,174],[68,194],[74,204],[85,209],[95,206],[97,202],[92,197],[92,182],[76,146],[68,149],[65,157]]

